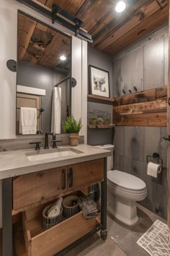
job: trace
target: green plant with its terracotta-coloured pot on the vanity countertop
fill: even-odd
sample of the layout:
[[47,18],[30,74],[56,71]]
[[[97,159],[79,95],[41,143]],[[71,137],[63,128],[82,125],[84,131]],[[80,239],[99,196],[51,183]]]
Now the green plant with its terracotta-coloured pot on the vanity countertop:
[[63,130],[70,134],[71,146],[79,145],[79,132],[81,130],[81,119],[76,121],[73,116],[68,116],[63,123]]

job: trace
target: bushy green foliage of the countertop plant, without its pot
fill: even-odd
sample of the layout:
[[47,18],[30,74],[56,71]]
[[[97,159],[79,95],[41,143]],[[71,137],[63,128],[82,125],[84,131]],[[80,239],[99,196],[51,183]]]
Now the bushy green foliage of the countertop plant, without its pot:
[[76,121],[73,116],[68,116],[63,123],[63,130],[66,133],[79,133],[81,130],[81,119]]

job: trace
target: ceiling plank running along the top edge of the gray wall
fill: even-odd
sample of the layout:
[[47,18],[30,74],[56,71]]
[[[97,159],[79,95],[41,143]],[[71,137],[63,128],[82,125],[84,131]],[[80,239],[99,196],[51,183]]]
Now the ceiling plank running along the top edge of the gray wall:
[[134,27],[132,30],[129,30],[128,33],[122,35],[119,40],[116,40],[114,43],[110,44],[104,48],[104,53],[106,54],[116,54],[118,51],[121,51],[123,48],[127,48],[136,41],[140,40],[144,36],[148,35],[152,31],[165,25],[169,21],[168,14],[169,4],[166,5],[163,9],[158,9],[153,15],[145,19],[138,26]]

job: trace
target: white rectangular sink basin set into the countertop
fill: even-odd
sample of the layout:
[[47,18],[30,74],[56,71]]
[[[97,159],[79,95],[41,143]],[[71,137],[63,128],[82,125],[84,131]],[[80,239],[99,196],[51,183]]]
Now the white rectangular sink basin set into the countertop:
[[53,158],[68,158],[69,156],[81,154],[83,152],[74,148],[58,148],[51,150],[37,150],[34,153],[27,153],[27,159],[32,161],[42,161]]

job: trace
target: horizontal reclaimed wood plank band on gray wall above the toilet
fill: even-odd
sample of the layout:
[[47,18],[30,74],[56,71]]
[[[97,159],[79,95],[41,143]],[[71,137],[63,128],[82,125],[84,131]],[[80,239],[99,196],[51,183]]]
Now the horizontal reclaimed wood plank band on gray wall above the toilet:
[[166,86],[113,99],[113,123],[116,125],[166,127]]

